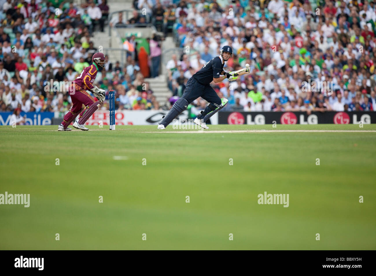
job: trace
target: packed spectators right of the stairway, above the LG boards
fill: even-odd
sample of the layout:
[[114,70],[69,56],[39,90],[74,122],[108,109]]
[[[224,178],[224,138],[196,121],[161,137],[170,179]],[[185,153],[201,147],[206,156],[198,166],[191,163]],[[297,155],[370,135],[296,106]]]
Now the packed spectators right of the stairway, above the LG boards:
[[[172,29],[182,48],[166,65],[174,95],[230,45],[234,54],[224,70],[246,63],[251,70],[236,81],[212,83],[229,99],[224,110],[376,109],[373,1],[141,0],[138,7],[150,3],[155,26]],[[200,106],[200,99],[193,104]]]

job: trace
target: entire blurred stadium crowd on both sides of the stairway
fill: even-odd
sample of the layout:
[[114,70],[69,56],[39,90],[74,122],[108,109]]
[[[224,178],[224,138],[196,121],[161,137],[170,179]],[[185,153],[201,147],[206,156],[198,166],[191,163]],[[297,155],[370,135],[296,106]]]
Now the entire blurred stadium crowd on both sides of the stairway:
[[[87,0],[80,6],[63,0],[0,0],[0,110],[66,113],[71,106],[67,89],[61,84],[55,89],[48,82],[73,81],[91,63],[98,51],[93,32],[103,31],[106,24],[149,22],[165,36],[171,32],[182,50],[164,65],[175,97],[182,95],[188,78],[218,56],[223,45],[230,45],[233,57],[224,70],[235,71],[246,63],[251,70],[235,81],[212,84],[221,98],[229,99],[224,110],[376,109],[373,1],[138,0],[134,4],[137,11],[125,20],[120,14],[108,18],[106,0]],[[117,90],[118,109],[159,109],[144,78],[159,74],[160,40],[148,39],[148,56],[141,47],[124,66],[112,61],[99,72],[99,87],[107,95],[109,89]],[[136,48],[133,36],[127,44]],[[193,106],[205,107],[203,102],[198,99]],[[107,100],[101,108],[108,109]]]

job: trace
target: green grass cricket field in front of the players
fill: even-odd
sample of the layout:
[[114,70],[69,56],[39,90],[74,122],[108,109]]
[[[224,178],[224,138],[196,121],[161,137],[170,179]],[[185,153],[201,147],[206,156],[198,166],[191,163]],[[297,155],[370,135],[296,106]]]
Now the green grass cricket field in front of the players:
[[0,249],[376,249],[376,124],[209,127],[1,126]]

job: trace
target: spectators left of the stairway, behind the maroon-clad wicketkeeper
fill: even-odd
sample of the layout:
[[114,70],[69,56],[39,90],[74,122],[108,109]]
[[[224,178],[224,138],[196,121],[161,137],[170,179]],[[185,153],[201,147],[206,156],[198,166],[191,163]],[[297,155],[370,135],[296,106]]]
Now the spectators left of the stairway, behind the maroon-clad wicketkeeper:
[[[92,63],[98,52],[92,33],[103,32],[108,14],[106,0],[80,6],[62,0],[0,0],[0,111],[64,116],[71,107],[69,82]],[[107,94],[101,108],[109,108],[108,90],[116,89],[117,109],[159,109],[143,69],[130,56],[123,67],[109,62],[96,78]]]

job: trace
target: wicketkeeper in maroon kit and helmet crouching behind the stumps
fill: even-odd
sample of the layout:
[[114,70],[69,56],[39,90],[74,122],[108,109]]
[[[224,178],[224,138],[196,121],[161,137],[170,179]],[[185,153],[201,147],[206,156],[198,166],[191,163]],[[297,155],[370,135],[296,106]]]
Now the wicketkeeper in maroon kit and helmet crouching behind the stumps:
[[[68,126],[79,115],[78,121],[74,122],[73,127],[80,130],[89,130],[84,126],[87,119],[96,112],[100,103],[105,100],[105,90],[93,86],[95,78],[97,77],[98,66],[105,68],[107,59],[103,53],[95,53],[92,58],[92,65],[83,69],[79,77],[77,77],[69,87],[69,94],[72,100],[72,107],[67,114],[65,114],[63,121],[58,127],[58,131],[69,131]],[[90,96],[92,94],[99,100],[94,100]]]

